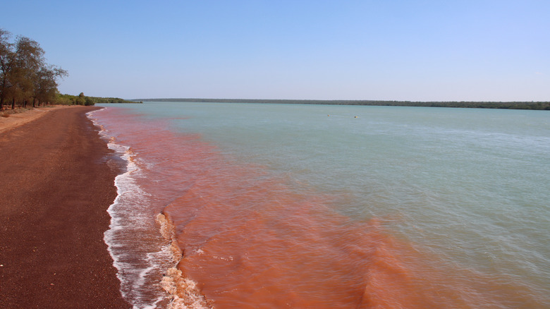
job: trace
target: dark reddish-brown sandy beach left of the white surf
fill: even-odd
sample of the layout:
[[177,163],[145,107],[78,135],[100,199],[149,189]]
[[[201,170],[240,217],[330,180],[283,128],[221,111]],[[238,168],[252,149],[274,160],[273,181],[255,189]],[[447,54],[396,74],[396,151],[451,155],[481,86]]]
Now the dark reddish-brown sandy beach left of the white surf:
[[103,241],[118,167],[94,109],[0,121],[0,308],[130,308]]

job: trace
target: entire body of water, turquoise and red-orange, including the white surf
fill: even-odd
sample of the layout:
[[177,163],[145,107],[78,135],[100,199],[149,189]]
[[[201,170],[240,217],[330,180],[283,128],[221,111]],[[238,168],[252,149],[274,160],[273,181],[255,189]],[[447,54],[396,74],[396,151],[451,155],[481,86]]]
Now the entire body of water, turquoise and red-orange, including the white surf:
[[548,111],[102,106],[135,308],[550,308]]

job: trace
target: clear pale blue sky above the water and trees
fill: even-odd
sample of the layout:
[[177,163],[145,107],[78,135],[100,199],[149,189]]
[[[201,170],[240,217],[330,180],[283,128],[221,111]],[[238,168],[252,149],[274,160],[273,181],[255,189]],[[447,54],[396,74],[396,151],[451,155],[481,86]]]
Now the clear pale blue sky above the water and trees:
[[2,1],[96,97],[549,101],[549,0]]

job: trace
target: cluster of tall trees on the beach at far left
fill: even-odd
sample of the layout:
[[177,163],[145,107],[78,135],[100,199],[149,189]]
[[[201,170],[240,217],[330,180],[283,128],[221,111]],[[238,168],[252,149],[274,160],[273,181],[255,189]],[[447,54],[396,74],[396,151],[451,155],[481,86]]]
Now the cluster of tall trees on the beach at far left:
[[44,49],[28,37],[16,37],[0,29],[0,110],[4,104],[15,109],[53,102],[57,95],[57,79],[67,71],[46,62]]

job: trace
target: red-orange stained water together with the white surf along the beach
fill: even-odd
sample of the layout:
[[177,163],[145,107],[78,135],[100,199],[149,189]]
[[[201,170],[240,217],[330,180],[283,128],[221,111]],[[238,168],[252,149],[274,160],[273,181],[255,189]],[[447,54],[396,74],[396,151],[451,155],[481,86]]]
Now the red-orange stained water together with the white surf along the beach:
[[[117,185],[128,189],[119,193],[118,204],[129,207],[112,214],[127,216],[126,226],[133,229],[112,247],[121,249],[114,254],[124,261],[118,267],[126,289],[136,289],[125,294],[134,304],[506,308],[528,303],[530,296],[490,293],[513,291],[520,283],[501,284],[471,269],[435,265],[429,252],[393,236],[387,218],[342,214],[334,207],[341,199],[221,154],[200,135],[173,132],[164,121],[148,120],[144,127],[138,116],[118,109],[97,115],[114,143],[128,146],[129,162],[135,164]],[[125,250],[142,256],[142,262],[124,260]]]

